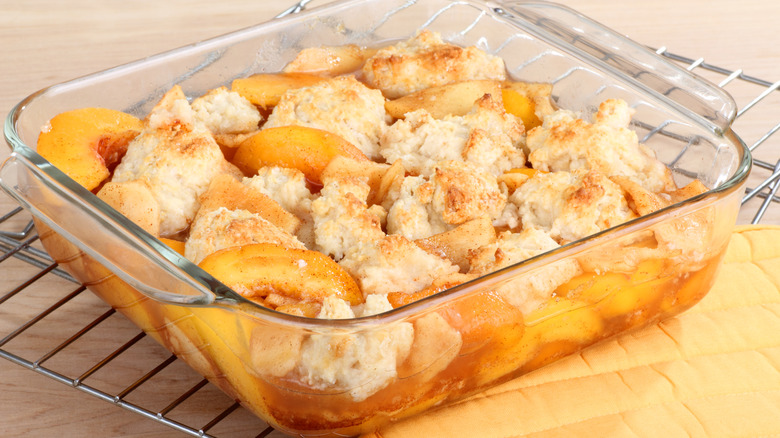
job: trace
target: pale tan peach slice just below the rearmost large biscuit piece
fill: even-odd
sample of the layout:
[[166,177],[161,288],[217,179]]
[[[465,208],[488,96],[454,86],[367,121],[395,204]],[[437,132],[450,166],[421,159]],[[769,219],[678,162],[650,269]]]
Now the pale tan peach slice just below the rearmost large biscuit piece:
[[390,100],[385,103],[385,110],[396,119],[402,119],[406,113],[418,109],[425,109],[437,119],[446,115],[462,116],[469,113],[474,102],[482,96],[490,94],[499,99],[501,93],[501,83],[497,81],[456,82]]

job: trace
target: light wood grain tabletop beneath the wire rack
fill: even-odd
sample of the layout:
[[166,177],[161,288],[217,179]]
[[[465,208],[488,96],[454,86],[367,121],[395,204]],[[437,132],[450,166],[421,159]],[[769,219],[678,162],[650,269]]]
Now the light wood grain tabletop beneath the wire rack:
[[[258,0],[0,0],[0,117],[4,120],[13,105],[48,85],[269,20],[292,3]],[[312,5],[322,3],[315,1]],[[780,80],[780,41],[776,36],[780,2],[564,0],[562,3],[648,46],[664,46],[671,52],[694,59],[704,58],[707,63],[730,70],[742,69],[746,75],[771,83]],[[714,81],[722,79],[722,76],[707,72],[701,74]],[[727,90],[739,106],[744,107],[764,88],[738,83],[727,87]],[[746,113],[743,120],[738,120],[735,131],[746,143],[752,144],[780,123],[779,109],[778,98],[770,97],[752,109],[750,114]],[[780,157],[779,141],[769,138],[756,155],[774,163]],[[8,149],[0,147],[0,160],[7,155]],[[754,209],[756,205],[753,202],[748,207]],[[13,201],[0,193],[0,216],[13,207]],[[770,210],[765,221],[780,223],[777,210],[777,207]],[[7,229],[21,220],[8,221],[0,229]],[[740,222],[749,220],[750,212],[746,211]],[[21,261],[3,262],[0,265],[0,296],[36,271]],[[40,309],[75,290],[77,285],[49,275],[36,282],[34,288],[25,291],[24,302],[9,300],[0,307],[0,338]],[[45,330],[26,333],[6,347],[33,356],[42,354],[40,352],[48,351],[60,342],[62,333],[78,330],[106,310],[91,294],[79,294],[63,311],[47,317]],[[123,318],[112,315],[106,320],[105,327],[101,325],[95,334],[74,345],[72,354],[57,359],[63,362],[58,366],[73,369],[78,375],[80,365],[105,356],[117,348],[118,340],[124,342],[136,332]],[[95,377],[96,381],[106,388],[113,388],[124,383],[128,376],[144,370],[149,361],[159,362],[168,356],[149,339],[143,339],[132,347],[132,351],[132,360],[118,369],[101,370]],[[166,369],[159,378],[163,383],[155,388],[168,385],[174,390],[198,381],[191,371],[180,365]],[[165,391],[160,389],[133,396],[150,397],[154,403],[164,407],[165,397],[161,393]],[[211,418],[204,417],[202,411],[212,415],[214,411],[218,413],[230,405],[224,396],[208,389],[188,403],[177,418],[182,422],[191,421],[193,426],[198,427],[203,425],[199,422],[203,422],[204,418],[206,421]],[[231,420],[230,425],[220,425],[213,433],[219,436],[255,436],[264,428],[262,422],[243,412],[231,414]],[[184,435],[0,359],[0,436]]]

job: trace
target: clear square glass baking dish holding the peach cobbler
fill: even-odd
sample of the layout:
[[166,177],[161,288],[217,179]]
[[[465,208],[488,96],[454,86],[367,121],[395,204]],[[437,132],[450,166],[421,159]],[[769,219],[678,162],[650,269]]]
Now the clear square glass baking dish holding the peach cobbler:
[[[300,49],[376,46],[421,29],[476,45],[517,80],[554,84],[592,115],[621,98],[679,186],[709,191],[371,317],[306,319],[243,299],[35,152],[54,115],[86,106],[143,117],[175,84],[189,96],[279,71]],[[10,113],[0,184],[29,209],[52,257],[94,293],[274,427],[356,435],[679,314],[710,288],[736,221],[750,154],[719,88],[560,5],[341,1],[41,90]],[[556,281],[576,264],[581,273]],[[545,289],[542,306],[517,303]],[[518,295],[519,292],[519,295]],[[513,298],[514,297],[514,298]],[[317,378],[301,373],[309,363]]]

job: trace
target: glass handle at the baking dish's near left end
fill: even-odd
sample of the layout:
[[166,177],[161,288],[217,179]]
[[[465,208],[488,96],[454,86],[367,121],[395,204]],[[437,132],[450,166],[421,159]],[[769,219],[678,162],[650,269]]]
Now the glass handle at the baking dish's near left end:
[[0,186],[36,218],[152,299],[207,305],[232,293],[27,147],[2,164]]

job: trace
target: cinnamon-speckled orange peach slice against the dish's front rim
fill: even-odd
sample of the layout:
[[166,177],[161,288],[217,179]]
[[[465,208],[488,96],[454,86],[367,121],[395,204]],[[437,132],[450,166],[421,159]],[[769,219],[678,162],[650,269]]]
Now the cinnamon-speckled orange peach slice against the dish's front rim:
[[212,253],[199,266],[247,298],[276,294],[321,303],[335,296],[352,305],[363,302],[347,271],[317,251],[256,243]]

